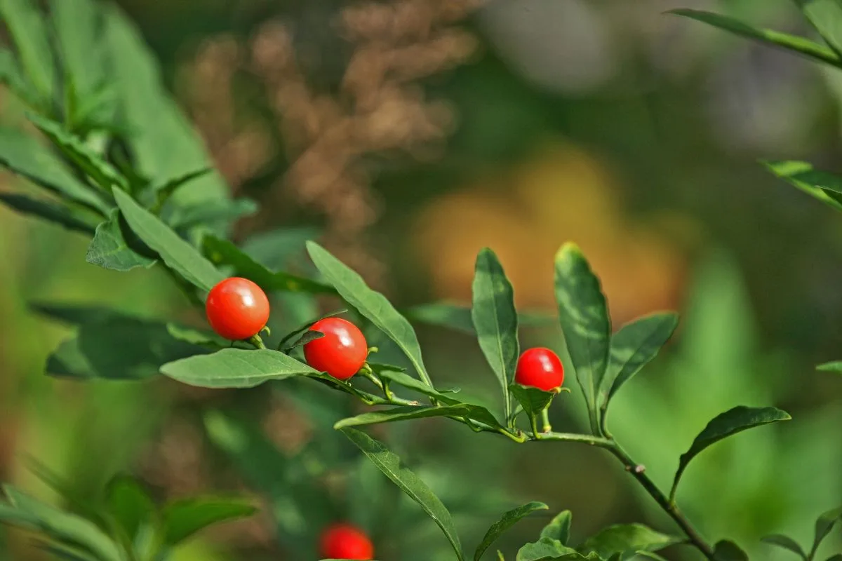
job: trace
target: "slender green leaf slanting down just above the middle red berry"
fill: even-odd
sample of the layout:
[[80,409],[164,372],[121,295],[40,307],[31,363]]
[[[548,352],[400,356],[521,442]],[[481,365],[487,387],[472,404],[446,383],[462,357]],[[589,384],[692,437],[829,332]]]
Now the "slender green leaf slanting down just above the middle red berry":
[[313,263],[324,276],[325,280],[336,288],[339,295],[346,302],[354,306],[377,329],[383,331],[407,355],[418,375],[429,386],[433,383],[429,379],[424,359],[421,357],[421,346],[413,326],[403,317],[383,294],[368,287],[362,277],[355,273],[343,262],[333,257],[327,250],[314,241],[307,242],[307,251]]

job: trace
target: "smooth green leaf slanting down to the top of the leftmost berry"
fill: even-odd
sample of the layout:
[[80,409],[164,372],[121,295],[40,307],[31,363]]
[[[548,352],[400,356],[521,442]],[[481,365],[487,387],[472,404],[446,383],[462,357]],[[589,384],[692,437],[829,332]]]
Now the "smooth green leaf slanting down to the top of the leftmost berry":
[[186,278],[189,283],[209,291],[224,278],[199,251],[182,240],[155,215],[141,208],[128,193],[115,188],[114,196],[131,230],[134,230],[147,246],[157,251],[168,267]]

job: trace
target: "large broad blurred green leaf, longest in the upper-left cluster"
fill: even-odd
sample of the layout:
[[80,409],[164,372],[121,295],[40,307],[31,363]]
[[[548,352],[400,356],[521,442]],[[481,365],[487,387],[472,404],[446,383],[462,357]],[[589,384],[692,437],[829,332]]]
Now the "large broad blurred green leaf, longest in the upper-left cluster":
[[[141,175],[162,183],[210,167],[200,135],[164,86],[156,57],[136,25],[113,4],[104,13],[120,124],[131,131],[127,140]],[[213,172],[179,188],[173,201],[195,204],[227,196],[221,176]]]

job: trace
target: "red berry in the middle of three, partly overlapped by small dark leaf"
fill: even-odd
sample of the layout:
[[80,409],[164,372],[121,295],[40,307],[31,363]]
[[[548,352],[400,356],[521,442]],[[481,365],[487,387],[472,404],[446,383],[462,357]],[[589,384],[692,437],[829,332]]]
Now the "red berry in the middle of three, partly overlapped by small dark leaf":
[[314,323],[310,331],[321,331],[324,336],[304,346],[307,364],[340,380],[360,372],[368,356],[368,344],[359,327],[342,318],[325,318]]

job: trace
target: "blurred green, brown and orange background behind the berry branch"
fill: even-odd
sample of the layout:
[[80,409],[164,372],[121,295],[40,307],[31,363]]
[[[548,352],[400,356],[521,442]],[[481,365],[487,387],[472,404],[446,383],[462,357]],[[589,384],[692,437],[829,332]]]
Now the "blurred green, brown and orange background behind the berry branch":
[[[806,542],[815,517],[842,504],[842,380],[813,368],[840,354],[842,220],[757,164],[800,158],[842,171],[842,79],[662,13],[707,8],[809,34],[792,3],[118,4],[232,190],[262,204],[237,240],[277,227],[302,239],[316,232],[399,306],[468,302],[474,257],[491,246],[518,304],[548,311],[552,255],[576,241],[615,325],[682,311],[673,342],[610,416],[658,484],[669,486],[679,454],[733,405],[778,405],[794,417],[723,442],[688,470],[679,502],[706,537],[786,558],[758,538]],[[6,92],[0,119],[21,120]],[[31,301],[167,317],[187,308],[157,271],[111,273],[84,253],[83,238],[0,209],[0,479],[51,497],[25,467],[32,456],[83,494],[121,471],[162,498],[262,491],[262,516],[206,532],[179,561],[300,561],[294,552],[336,519],[372,532],[381,561],[450,559],[434,524],[333,433],[355,407],[343,397],[307,384],[207,392],[165,379],[45,377],[45,357],[69,331],[35,316]],[[293,299],[275,304],[281,325],[317,313]],[[437,384],[495,403],[497,382],[472,337],[418,329]],[[558,349],[558,333],[522,332],[522,345],[538,344]],[[584,430],[578,400],[557,400],[557,430]],[[514,447],[447,421],[381,436],[441,493],[468,544],[525,500],[572,510],[574,537],[621,521],[674,531],[599,450]],[[332,503],[314,505],[312,485]],[[501,548],[533,540],[545,522],[523,522]],[[41,558],[25,535],[2,539],[0,558]]]

